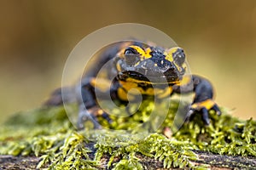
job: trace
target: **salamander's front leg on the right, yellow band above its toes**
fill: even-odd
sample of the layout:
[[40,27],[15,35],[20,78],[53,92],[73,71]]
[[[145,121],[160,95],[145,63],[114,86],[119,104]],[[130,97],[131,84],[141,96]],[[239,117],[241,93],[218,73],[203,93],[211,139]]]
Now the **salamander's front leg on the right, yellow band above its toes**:
[[195,111],[202,114],[202,120],[206,125],[210,124],[209,111],[214,110],[217,115],[221,115],[218,105],[213,101],[213,88],[212,84],[205,78],[199,76],[192,76],[193,91],[195,92],[195,99],[190,105],[186,121]]

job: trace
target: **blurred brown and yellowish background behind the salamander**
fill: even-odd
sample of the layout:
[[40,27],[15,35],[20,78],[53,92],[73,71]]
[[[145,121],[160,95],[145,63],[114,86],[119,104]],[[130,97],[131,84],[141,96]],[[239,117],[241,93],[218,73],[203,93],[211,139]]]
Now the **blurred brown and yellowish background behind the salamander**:
[[[166,32],[218,105],[256,118],[256,1],[1,1],[0,120],[40,106],[61,87],[74,46],[104,26],[134,22]],[[1,122],[0,121],[0,122]]]

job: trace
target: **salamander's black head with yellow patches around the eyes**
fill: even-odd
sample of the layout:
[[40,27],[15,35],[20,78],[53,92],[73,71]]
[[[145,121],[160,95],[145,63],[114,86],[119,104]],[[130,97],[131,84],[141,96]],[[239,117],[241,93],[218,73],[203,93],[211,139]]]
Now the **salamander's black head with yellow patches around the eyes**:
[[185,54],[178,47],[130,45],[117,55],[116,70],[123,81],[175,83],[186,71]]

